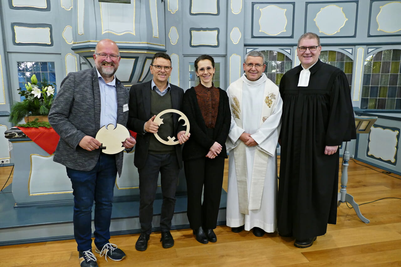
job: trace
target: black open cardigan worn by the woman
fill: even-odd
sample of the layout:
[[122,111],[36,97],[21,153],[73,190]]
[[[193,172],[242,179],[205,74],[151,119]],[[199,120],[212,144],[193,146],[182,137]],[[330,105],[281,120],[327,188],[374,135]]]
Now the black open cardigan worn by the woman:
[[219,109],[217,111],[214,136],[211,139],[207,136],[206,123],[201,109],[199,109],[194,87],[185,91],[182,112],[188,117],[191,137],[185,142],[182,149],[184,160],[205,157],[215,142],[223,146],[218,156],[227,158],[225,141],[230,130],[231,111],[226,91],[219,88],[219,92]]

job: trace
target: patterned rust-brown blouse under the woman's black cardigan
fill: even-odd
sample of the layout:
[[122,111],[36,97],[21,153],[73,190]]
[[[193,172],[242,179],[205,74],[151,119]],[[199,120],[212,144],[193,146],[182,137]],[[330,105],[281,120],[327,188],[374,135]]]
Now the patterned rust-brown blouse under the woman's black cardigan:
[[199,109],[201,109],[203,119],[207,128],[214,128],[216,124],[217,111],[219,109],[220,92],[213,83],[212,87],[205,87],[199,83],[195,87],[196,98],[198,99]]

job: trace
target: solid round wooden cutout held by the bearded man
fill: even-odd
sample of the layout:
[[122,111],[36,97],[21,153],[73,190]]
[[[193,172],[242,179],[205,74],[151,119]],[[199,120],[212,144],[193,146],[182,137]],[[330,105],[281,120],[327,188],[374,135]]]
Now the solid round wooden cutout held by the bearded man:
[[124,146],[122,142],[124,142],[127,138],[130,137],[130,132],[128,129],[121,124],[114,125],[110,123],[101,127],[99,131],[97,131],[95,139],[101,142],[102,152],[105,154],[117,154],[124,150]]

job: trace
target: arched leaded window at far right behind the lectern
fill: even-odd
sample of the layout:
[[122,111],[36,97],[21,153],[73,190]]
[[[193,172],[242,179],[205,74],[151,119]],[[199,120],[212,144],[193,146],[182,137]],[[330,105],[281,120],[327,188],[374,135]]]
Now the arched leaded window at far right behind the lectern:
[[401,109],[401,50],[379,51],[365,59],[361,109]]

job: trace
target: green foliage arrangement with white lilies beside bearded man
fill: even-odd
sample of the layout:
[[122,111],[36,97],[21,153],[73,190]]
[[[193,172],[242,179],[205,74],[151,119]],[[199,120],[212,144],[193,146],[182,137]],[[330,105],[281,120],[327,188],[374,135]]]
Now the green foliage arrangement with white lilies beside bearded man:
[[[24,96],[25,99],[11,106],[8,121],[14,125],[26,116],[49,115],[55,87],[49,85],[45,77],[42,78],[41,88],[38,86],[36,75],[32,75],[30,81],[30,83],[25,84],[26,90],[18,89],[18,94]],[[55,84],[53,83],[53,85]]]

